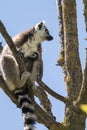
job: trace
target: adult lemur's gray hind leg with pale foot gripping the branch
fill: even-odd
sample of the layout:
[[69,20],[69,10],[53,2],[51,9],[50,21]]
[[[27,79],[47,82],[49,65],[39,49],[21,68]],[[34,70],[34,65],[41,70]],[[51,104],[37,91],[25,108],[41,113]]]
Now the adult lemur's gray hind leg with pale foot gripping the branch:
[[0,71],[6,81],[9,90],[15,90],[22,87],[27,78],[29,77],[29,72],[24,72],[20,76],[18,64],[12,55],[6,54],[0,59]]

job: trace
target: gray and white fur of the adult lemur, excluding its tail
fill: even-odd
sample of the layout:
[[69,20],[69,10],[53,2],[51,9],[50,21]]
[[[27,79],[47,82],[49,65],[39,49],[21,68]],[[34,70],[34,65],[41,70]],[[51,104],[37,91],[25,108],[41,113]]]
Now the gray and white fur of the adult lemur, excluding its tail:
[[[41,53],[39,52],[40,43],[48,39],[52,40],[53,37],[50,35],[44,22],[40,22],[39,24],[32,27],[30,30],[28,29],[24,32],[21,32],[13,38],[17,50],[21,51],[24,54],[25,59],[31,56],[31,54],[34,52],[38,54],[37,60],[34,61],[32,60],[30,61],[30,63],[29,61],[27,62],[31,68],[29,72],[31,73],[32,82],[35,82],[35,80],[37,79],[36,77],[37,74],[41,73],[38,72],[38,70],[39,71],[42,70],[41,69],[42,63],[40,63],[42,62],[42,58],[41,58]],[[38,69],[39,67],[40,69]],[[21,80],[22,78],[20,78],[18,64],[8,45],[4,47],[1,53],[0,69],[4,80],[8,84],[9,89],[11,90],[20,88],[21,85],[24,84],[24,81],[26,81],[26,79],[29,76],[29,74],[26,73],[27,75],[24,76],[24,78],[26,79],[23,80],[22,83]]]

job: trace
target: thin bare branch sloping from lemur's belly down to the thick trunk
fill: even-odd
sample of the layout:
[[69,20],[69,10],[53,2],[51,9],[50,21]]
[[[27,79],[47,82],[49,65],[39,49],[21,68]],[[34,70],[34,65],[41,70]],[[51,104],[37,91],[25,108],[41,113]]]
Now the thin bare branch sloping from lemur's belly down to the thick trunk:
[[56,92],[54,92],[52,89],[50,89],[44,82],[42,81],[37,81],[37,83],[43,88],[43,90],[47,91],[50,95],[52,95],[53,97],[55,97],[56,99],[66,103],[66,98],[61,96],[60,94],[57,94]]

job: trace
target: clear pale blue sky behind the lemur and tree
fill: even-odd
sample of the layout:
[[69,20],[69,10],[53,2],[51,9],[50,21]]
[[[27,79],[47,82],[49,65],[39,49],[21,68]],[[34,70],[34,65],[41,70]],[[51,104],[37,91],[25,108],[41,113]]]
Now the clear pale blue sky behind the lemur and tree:
[[[78,0],[77,0],[78,2]],[[87,47],[82,11],[82,2],[78,3],[78,34],[79,34],[79,52],[82,67],[85,63],[85,48]],[[17,33],[35,25],[39,21],[46,21],[54,40],[42,43],[44,73],[43,81],[54,91],[66,96],[66,87],[61,67],[56,66],[59,55],[59,29],[57,19],[56,0],[1,0],[0,1],[0,19],[6,26],[9,34],[13,37]],[[0,41],[5,44],[0,35]],[[57,117],[57,121],[63,121],[64,104],[57,101],[49,95],[52,101],[52,111]],[[36,125],[38,130],[47,130],[42,125]],[[0,129],[2,130],[22,130],[23,122],[20,109],[10,101],[10,99],[0,90]]]

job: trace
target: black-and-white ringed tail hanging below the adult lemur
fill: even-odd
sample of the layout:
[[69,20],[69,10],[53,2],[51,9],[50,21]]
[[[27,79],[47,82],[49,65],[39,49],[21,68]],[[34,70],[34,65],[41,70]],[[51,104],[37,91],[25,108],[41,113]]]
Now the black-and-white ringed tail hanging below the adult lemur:
[[35,115],[35,109],[31,99],[27,94],[27,91],[24,91],[23,89],[15,90],[15,96],[17,97],[18,103],[22,110],[24,130],[35,130],[34,124],[37,117]]

